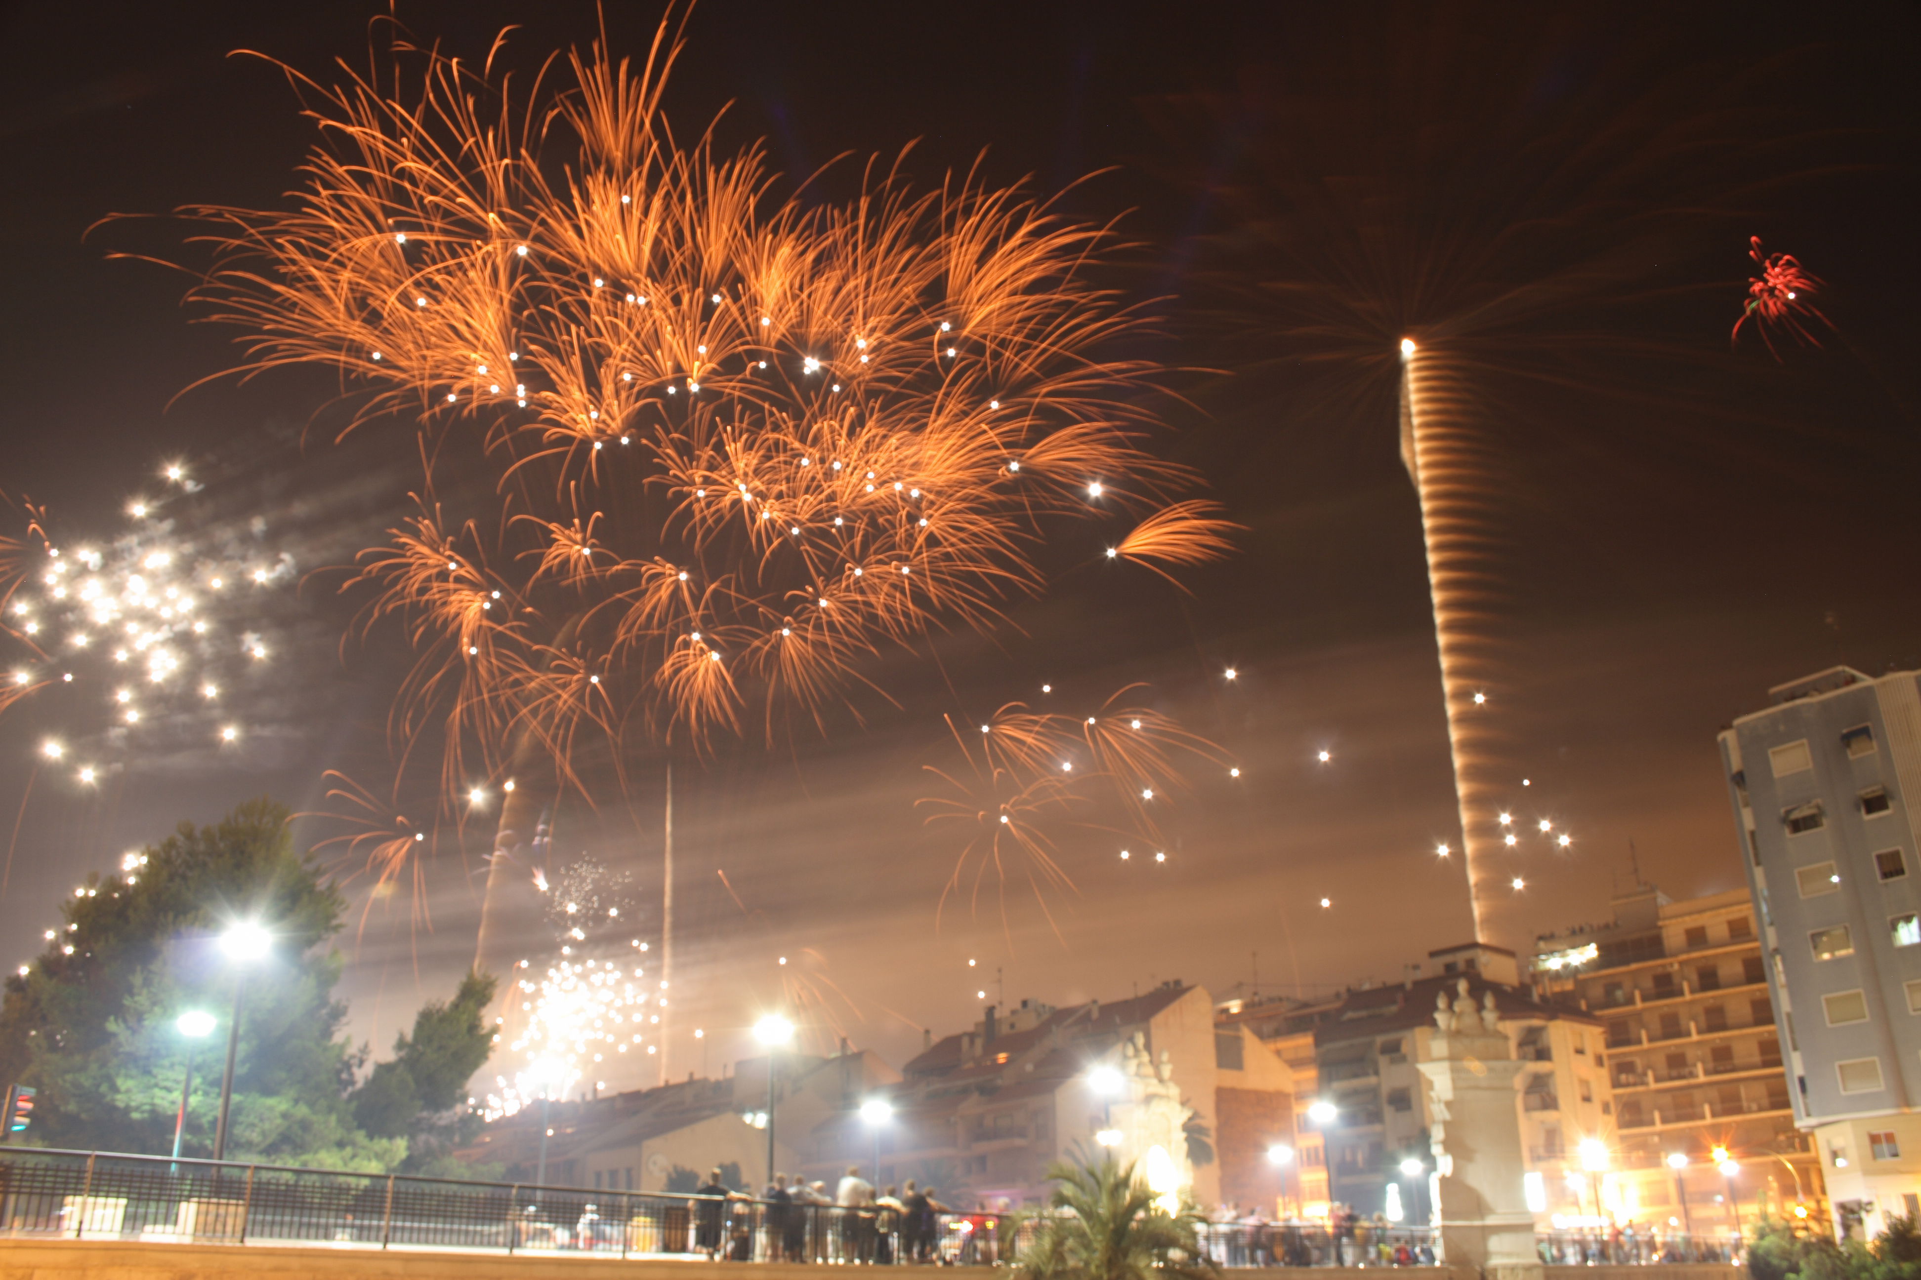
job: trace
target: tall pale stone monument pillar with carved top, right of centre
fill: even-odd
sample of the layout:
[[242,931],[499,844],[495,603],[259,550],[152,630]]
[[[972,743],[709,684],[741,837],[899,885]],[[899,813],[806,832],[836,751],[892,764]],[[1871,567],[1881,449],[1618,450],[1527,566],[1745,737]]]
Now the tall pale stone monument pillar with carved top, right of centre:
[[1495,992],[1483,992],[1479,1007],[1468,979],[1454,1000],[1441,992],[1418,1065],[1433,1113],[1437,1261],[1475,1267],[1489,1280],[1541,1280],[1514,1098],[1525,1063],[1500,1031]]

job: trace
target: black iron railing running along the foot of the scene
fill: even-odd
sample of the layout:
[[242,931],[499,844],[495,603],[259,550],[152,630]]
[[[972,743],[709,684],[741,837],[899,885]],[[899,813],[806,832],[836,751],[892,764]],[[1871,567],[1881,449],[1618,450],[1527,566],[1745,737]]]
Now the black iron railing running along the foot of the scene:
[[[997,1213],[845,1209],[742,1196],[601,1192],[409,1174],[0,1150],[0,1234],[148,1244],[327,1244],[369,1249],[569,1251],[742,1263],[993,1267],[1012,1263],[1035,1219]],[[1546,1261],[1727,1261],[1729,1242],[1543,1236]],[[1423,1228],[1358,1221],[1206,1222],[1220,1267],[1422,1267]]]

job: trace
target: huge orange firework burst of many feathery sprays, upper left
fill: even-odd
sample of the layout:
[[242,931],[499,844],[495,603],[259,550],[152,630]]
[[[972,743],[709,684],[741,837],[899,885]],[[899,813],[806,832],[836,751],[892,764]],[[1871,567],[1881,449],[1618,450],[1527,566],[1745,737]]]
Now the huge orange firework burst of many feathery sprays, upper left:
[[997,626],[1043,524],[1224,551],[1145,447],[1160,370],[1103,355],[1145,322],[1089,278],[1106,228],[899,161],[782,198],[759,148],[669,130],[676,56],[663,25],[528,96],[409,44],[336,88],[290,71],[325,129],[292,205],[184,211],[246,376],[338,370],[353,428],[411,432],[417,514],[355,581],[411,637],[394,729],[438,743],[442,804],[519,775],[496,854],[555,787],[592,800],[590,743],[619,779],[636,739],[822,725],[878,649]]

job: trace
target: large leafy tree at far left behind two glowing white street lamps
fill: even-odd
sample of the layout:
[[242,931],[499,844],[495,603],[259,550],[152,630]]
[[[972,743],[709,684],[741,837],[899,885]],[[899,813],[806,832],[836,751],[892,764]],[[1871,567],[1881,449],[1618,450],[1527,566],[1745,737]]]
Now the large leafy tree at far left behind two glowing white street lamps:
[[[169,1150],[192,1054],[184,1151],[211,1153],[234,984],[244,981],[227,1155],[367,1171],[407,1155],[405,1126],[369,1134],[355,1123],[365,1054],[340,1034],[346,1006],[332,988],[342,960],[327,946],[344,900],[311,856],[296,852],[286,819],[279,804],[254,800],[211,827],[181,823],[119,875],[92,875],[63,900],[54,940],[6,981],[0,1002],[0,1080],[38,1088],[35,1140]],[[227,963],[217,944],[240,919],[273,935],[271,956],[246,969]],[[219,1019],[204,1044],[179,1034],[186,1009]],[[409,1046],[419,1044],[413,1061],[426,1080],[413,1080],[409,1065],[417,1111],[457,1094],[448,1077],[473,1054],[457,1034],[463,1019],[457,996],[428,1019],[425,1042],[417,1025]],[[386,1094],[396,1092],[390,1084]],[[394,1126],[394,1107],[367,1111]]]

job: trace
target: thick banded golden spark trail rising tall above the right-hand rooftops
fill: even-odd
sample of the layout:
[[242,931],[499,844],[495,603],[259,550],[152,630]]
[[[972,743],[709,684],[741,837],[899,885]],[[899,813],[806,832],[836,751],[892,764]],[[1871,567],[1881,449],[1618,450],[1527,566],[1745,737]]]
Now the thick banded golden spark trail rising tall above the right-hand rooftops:
[[1512,894],[1500,892],[1506,877],[1496,856],[1504,743],[1485,714],[1489,691],[1498,693],[1506,670],[1496,626],[1508,589],[1495,560],[1498,533],[1489,503],[1498,468],[1493,447],[1471,428],[1466,390],[1443,359],[1412,344],[1402,351],[1400,457],[1422,505],[1468,902],[1473,936],[1500,940],[1514,935],[1506,919],[1512,908],[1502,910]]

